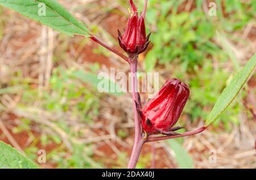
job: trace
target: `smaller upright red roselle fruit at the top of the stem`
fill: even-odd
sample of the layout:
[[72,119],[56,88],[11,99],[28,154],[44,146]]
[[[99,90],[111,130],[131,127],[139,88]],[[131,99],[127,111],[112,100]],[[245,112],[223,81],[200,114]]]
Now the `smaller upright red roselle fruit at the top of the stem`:
[[138,11],[133,1],[130,0],[131,14],[127,27],[123,35],[118,29],[119,45],[129,55],[143,53],[150,43],[150,34],[146,37],[146,29],[143,15],[138,15]]

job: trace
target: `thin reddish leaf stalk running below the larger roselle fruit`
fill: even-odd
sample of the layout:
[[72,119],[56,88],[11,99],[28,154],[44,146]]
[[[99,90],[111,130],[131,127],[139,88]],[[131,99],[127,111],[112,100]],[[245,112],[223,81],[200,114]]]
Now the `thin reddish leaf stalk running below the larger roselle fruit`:
[[200,132],[203,132],[204,130],[206,130],[206,128],[207,127],[200,127],[194,131],[188,131],[188,132],[184,132],[183,134],[177,134],[177,135],[172,135],[172,136],[152,137],[152,138],[148,138],[146,140],[146,142],[156,142],[158,140],[166,140],[166,139],[180,138],[180,137],[184,137],[184,136],[191,136],[191,135],[195,135],[195,134],[199,134]]

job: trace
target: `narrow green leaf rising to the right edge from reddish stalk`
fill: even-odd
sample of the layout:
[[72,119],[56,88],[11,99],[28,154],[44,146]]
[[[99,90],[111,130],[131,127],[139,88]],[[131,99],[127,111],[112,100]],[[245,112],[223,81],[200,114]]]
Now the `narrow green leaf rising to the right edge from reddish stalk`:
[[216,104],[214,105],[212,112],[205,122],[205,126],[211,125],[216,121],[220,115],[228,108],[230,103],[237,96],[238,92],[242,89],[243,85],[249,79],[250,75],[253,73],[256,67],[256,54],[246,63],[240,72],[234,76],[229,85],[224,89],[218,98]]

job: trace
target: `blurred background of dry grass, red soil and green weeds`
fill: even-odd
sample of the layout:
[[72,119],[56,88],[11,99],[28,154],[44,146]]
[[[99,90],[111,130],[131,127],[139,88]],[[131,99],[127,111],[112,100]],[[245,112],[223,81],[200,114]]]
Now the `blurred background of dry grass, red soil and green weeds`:
[[[125,0],[60,0],[107,44],[118,47]],[[135,1],[140,10],[143,1]],[[217,10],[214,14],[214,6]],[[180,78],[191,96],[179,126],[204,125],[214,102],[256,52],[256,0],[149,0],[147,52],[139,72],[159,72],[160,85]],[[0,140],[40,168],[126,168],[134,123],[129,93],[99,93],[98,72],[129,65],[81,36],[74,38],[0,7]],[[256,168],[256,75],[202,134],[155,144],[155,168]],[[142,96],[143,101],[147,96]],[[214,160],[216,163],[213,163]],[[137,168],[151,168],[151,144]]]

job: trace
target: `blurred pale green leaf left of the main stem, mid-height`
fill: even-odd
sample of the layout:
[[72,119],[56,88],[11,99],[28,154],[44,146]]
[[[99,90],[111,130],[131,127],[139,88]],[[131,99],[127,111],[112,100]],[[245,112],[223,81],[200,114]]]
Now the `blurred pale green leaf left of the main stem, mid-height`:
[[110,95],[114,95],[114,96],[123,95],[122,89],[118,86],[117,83],[110,80],[107,75],[104,76],[104,78],[102,78],[96,74],[85,72],[84,70],[79,70],[79,71],[73,72],[73,76],[77,79],[80,79],[84,83],[90,83],[95,88],[101,88],[101,85],[99,86],[99,84],[101,83],[106,87],[106,89],[104,88],[106,90],[105,92],[109,93]]

